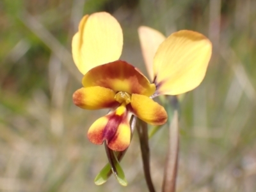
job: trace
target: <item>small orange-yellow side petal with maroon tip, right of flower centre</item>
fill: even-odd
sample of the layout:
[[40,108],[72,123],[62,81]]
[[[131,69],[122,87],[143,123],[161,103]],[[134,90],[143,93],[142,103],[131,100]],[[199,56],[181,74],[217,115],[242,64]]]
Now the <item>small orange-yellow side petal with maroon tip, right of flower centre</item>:
[[147,96],[132,94],[131,107],[131,112],[148,124],[159,125],[167,121],[164,108]]

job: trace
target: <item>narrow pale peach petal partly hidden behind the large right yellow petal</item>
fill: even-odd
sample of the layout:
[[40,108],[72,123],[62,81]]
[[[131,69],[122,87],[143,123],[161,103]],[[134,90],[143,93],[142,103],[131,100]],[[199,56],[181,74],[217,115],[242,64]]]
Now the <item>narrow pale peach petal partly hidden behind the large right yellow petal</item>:
[[159,31],[146,26],[140,26],[138,29],[142,55],[150,80],[153,80],[153,59],[159,45],[166,37]]

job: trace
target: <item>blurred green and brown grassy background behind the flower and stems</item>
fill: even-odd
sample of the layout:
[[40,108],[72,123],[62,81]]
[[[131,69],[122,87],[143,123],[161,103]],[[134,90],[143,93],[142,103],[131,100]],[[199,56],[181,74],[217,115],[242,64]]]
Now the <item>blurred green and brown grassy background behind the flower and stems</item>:
[[[95,186],[107,163],[86,131],[106,110],[74,106],[82,75],[70,53],[79,20],[108,11],[124,31],[121,59],[146,72],[137,29],[191,29],[214,50],[202,84],[180,105],[177,191],[256,191],[255,0],[1,0],[0,191],[147,191],[137,133],[122,167]],[[168,129],[150,140],[151,172],[161,191]]]

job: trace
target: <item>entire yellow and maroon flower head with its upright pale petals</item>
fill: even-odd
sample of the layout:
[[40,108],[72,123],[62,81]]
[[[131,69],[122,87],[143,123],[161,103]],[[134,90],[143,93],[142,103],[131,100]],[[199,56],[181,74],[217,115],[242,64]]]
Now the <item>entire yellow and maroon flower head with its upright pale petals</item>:
[[113,151],[124,151],[131,140],[132,114],[148,124],[164,124],[166,111],[151,98],[190,91],[205,76],[212,47],[204,35],[187,30],[173,33],[165,40],[153,35],[156,42],[150,40],[154,46],[147,48],[147,38],[152,36],[148,29],[140,28],[140,40],[143,55],[152,57],[156,52],[152,61],[148,59],[153,84],[140,70],[118,60],[123,36],[114,17],[105,12],[93,13],[84,16],[79,24],[72,40],[72,55],[84,77],[83,87],[74,92],[74,103],[88,110],[111,109],[89,128],[87,136],[93,144],[106,141]]

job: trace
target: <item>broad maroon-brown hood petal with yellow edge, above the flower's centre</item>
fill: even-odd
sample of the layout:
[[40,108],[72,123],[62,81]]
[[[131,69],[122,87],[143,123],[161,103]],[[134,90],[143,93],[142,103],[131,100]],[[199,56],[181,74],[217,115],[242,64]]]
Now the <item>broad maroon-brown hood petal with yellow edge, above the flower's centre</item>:
[[100,86],[115,92],[124,91],[129,94],[137,93],[151,96],[156,86],[129,63],[114,61],[103,64],[88,71],[83,77],[84,87]]

